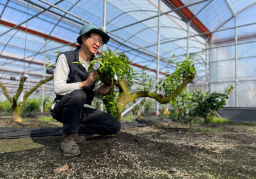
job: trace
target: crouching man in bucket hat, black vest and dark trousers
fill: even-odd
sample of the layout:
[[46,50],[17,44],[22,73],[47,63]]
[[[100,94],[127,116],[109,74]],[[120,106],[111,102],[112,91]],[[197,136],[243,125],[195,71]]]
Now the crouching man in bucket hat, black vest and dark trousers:
[[[109,36],[95,24],[83,26],[74,51],[63,52],[56,60],[54,93],[51,107],[54,119],[63,123],[61,150],[65,156],[79,155],[76,142],[84,142],[80,134],[116,134],[120,122],[110,114],[92,107],[94,96],[101,98],[109,92],[105,84],[96,83],[99,76],[88,72],[90,61],[100,46],[108,43]],[[81,46],[80,46],[81,45]],[[72,62],[80,61],[82,65]]]

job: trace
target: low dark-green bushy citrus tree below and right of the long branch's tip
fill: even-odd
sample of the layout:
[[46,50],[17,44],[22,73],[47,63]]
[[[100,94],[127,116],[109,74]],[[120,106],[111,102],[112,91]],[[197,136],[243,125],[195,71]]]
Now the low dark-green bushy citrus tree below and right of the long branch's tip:
[[208,123],[216,114],[218,109],[223,109],[226,100],[234,86],[230,85],[225,88],[225,93],[217,93],[214,91],[209,95],[209,91],[186,91],[183,89],[175,99],[172,100],[172,111],[170,118],[174,121],[187,122],[189,121],[190,129],[193,128],[193,120],[196,117],[204,118],[204,122]]

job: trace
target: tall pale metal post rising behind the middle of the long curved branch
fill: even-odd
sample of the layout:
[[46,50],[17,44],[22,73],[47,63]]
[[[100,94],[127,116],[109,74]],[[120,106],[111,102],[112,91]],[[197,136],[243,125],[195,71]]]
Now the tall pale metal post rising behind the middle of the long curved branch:
[[[156,84],[159,82],[159,61],[160,61],[160,8],[161,6],[161,0],[158,0],[158,26],[157,26],[157,72],[156,72]],[[159,90],[157,89],[157,93],[159,93]],[[156,116],[159,115],[159,104],[156,101]]]

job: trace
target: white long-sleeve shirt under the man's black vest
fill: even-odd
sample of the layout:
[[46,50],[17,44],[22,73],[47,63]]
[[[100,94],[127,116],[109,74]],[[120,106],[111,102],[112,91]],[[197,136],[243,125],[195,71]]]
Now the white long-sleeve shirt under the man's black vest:
[[[86,65],[84,65],[84,68],[86,68],[86,71],[88,71],[88,68]],[[58,57],[57,63],[56,63],[56,68],[54,72],[54,78],[53,78],[53,84],[54,84],[54,93],[55,95],[66,95],[67,93],[70,93],[74,91],[75,89],[79,89],[79,82],[74,82],[74,83],[67,83],[68,80],[68,74],[70,72],[68,63],[67,63],[67,58],[64,54],[60,54]],[[102,95],[99,94],[97,95],[99,90],[99,84],[96,82],[95,87],[93,89],[94,95],[97,98],[102,98]],[[54,104],[52,104],[51,109],[54,108]],[[84,107],[92,107],[92,105],[84,104]]]

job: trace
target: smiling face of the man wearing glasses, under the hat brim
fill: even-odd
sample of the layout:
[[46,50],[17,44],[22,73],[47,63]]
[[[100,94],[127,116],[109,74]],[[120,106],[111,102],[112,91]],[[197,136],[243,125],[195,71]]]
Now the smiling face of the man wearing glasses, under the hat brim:
[[102,36],[98,33],[92,33],[90,36],[82,36],[82,46],[85,47],[86,52],[90,55],[97,54],[100,49],[100,42],[102,42]]

